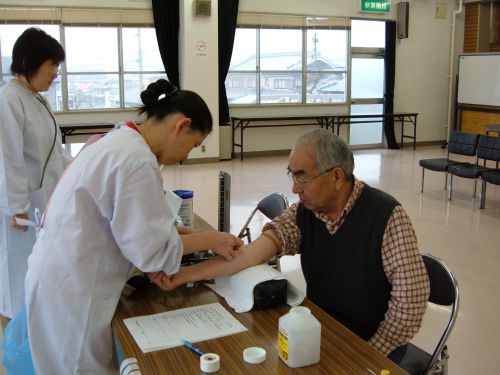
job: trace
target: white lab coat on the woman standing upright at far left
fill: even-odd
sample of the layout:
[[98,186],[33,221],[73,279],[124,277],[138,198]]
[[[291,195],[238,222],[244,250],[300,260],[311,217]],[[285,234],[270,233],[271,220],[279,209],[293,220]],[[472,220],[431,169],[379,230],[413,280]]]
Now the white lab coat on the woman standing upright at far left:
[[15,214],[45,208],[70,156],[62,148],[57,127],[54,150],[43,186],[42,170],[54,139],[54,122],[35,95],[11,81],[0,88],[0,314],[13,317],[24,304],[27,259],[35,230],[21,232],[10,226]]

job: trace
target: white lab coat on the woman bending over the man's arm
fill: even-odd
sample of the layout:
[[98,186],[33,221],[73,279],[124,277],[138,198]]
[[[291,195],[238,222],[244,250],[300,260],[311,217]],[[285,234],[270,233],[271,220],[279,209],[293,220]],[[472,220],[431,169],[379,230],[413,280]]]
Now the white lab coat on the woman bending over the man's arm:
[[111,320],[133,265],[176,273],[182,242],[155,156],[126,126],[84,148],[51,198],[28,260],[39,375],[111,374]]

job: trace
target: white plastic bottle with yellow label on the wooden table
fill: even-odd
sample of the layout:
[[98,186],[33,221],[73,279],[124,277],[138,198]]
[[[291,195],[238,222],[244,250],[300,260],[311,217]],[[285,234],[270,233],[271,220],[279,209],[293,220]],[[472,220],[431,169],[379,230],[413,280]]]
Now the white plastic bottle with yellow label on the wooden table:
[[279,356],[290,367],[319,362],[321,324],[307,307],[296,306],[279,320]]

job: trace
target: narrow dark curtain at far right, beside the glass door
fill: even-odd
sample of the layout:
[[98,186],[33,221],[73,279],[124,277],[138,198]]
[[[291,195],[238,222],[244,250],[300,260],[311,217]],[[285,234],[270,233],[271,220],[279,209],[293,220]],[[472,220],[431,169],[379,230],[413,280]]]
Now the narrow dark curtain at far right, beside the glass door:
[[[385,23],[385,92],[384,113],[394,113],[394,78],[396,75],[396,22]],[[398,149],[394,135],[394,120],[384,121],[384,134],[387,148]]]

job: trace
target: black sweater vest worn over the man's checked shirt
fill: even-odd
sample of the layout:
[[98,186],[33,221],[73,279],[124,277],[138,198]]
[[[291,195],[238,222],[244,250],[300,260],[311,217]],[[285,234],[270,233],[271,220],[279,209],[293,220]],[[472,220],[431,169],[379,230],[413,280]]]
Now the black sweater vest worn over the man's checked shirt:
[[307,297],[368,340],[388,308],[391,285],[382,265],[382,239],[394,208],[390,195],[364,185],[344,223],[332,236],[302,204],[297,209]]

